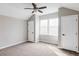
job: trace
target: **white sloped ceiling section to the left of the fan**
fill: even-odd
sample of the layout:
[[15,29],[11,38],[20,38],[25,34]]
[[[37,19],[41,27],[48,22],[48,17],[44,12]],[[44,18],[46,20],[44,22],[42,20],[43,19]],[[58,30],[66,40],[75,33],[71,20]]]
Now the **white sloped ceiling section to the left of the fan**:
[[0,15],[16,17],[19,19],[28,19],[32,15],[30,10],[24,10],[24,7],[32,5],[22,3],[0,3]]

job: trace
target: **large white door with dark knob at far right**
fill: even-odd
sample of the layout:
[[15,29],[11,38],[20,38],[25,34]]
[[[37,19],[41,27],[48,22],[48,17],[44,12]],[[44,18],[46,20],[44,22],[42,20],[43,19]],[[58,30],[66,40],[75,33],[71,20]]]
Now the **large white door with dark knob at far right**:
[[61,17],[61,43],[68,50],[77,50],[78,39],[78,16]]

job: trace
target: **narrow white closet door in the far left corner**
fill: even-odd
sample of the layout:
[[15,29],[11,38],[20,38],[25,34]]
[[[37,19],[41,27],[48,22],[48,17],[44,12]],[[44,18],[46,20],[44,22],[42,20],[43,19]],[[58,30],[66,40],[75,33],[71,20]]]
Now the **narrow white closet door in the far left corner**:
[[28,41],[34,42],[34,21],[28,21]]

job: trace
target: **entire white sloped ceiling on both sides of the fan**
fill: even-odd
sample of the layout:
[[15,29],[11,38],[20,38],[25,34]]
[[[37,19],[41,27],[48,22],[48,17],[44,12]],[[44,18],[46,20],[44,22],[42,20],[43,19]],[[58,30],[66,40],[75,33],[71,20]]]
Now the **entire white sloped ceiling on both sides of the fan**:
[[[38,7],[47,6],[47,9],[43,9],[44,15],[48,13],[54,13],[58,11],[59,7],[67,7],[73,10],[79,11],[79,3],[36,3]],[[31,3],[0,3],[0,15],[6,15],[16,17],[19,19],[28,19],[32,15],[31,10],[24,10],[24,8],[32,8]]]

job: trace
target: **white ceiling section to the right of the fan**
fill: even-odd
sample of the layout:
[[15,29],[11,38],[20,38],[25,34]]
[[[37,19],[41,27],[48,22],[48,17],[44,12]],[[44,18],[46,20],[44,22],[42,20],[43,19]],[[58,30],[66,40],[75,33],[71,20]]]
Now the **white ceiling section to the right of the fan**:
[[[37,5],[38,6],[47,6],[47,9],[42,10],[42,11],[44,11],[43,14],[58,12],[58,8],[60,8],[60,7],[66,7],[66,8],[70,8],[70,9],[79,11],[79,3],[43,3],[43,4],[39,3]],[[43,15],[43,14],[41,14],[41,15]]]

